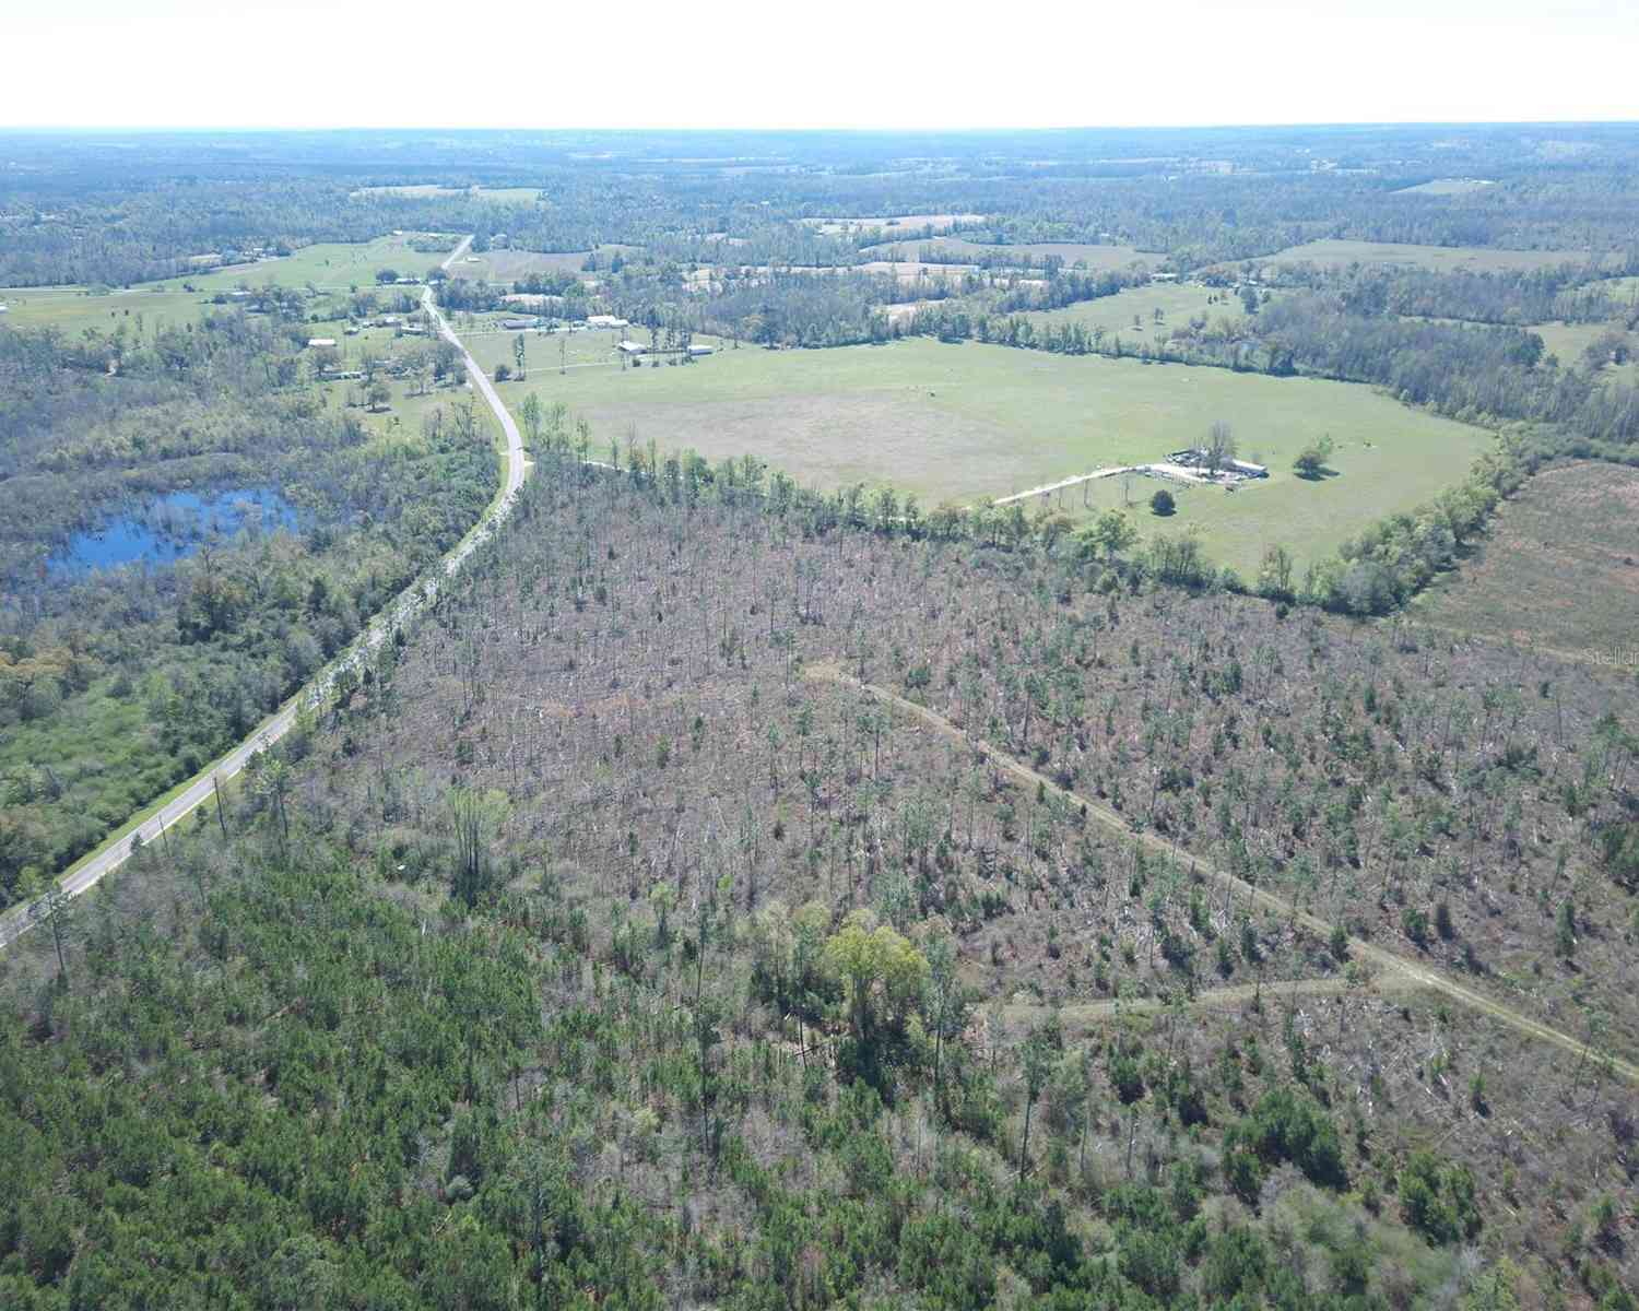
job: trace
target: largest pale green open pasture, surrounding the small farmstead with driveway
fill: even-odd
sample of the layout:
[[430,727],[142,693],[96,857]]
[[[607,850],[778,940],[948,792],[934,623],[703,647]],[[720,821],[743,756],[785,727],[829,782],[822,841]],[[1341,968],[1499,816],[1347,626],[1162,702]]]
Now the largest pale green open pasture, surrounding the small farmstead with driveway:
[[[636,429],[662,449],[752,452],[803,483],[892,482],[924,505],[1154,460],[1226,420],[1242,454],[1269,464],[1274,477],[1233,495],[1185,492],[1170,519],[1147,510],[1139,519],[1146,531],[1193,524],[1216,559],[1242,570],[1275,541],[1300,559],[1331,551],[1372,519],[1457,482],[1490,442],[1482,429],[1365,387],[1224,369],[918,338],[833,351],[729,349],[687,367],[636,370],[598,365],[588,342],[592,359],[580,362],[590,367],[559,374],[549,342],[529,338],[529,380],[502,390],[515,411],[533,390],[585,415],[600,444]],[[488,369],[511,362],[506,336],[472,346]],[[1311,483],[1287,472],[1298,449],[1328,433],[1337,477]],[[1119,482],[1093,483],[1090,497],[1119,501]],[[1157,485],[1136,482],[1144,497]],[[1065,508],[1078,508],[1082,495],[1067,492]]]

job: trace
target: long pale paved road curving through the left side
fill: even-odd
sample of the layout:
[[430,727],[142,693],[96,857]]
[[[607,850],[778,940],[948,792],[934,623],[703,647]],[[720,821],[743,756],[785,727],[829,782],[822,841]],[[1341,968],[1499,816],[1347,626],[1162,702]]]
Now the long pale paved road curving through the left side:
[[[462,239],[462,243],[449,252],[441,267],[447,270],[451,264],[465,254],[470,244],[470,236]],[[216,760],[203,773],[197,775],[180,795],[161,806],[159,811],[149,816],[143,824],[136,826],[131,832],[105,842],[97,852],[85,859],[84,864],[74,870],[74,873],[64,878],[61,882],[61,888],[69,896],[79,896],[89,888],[97,887],[107,873],[125,864],[125,860],[131,855],[131,846],[138,836],[141,836],[144,846],[157,841],[166,829],[172,828],[180,819],[185,819],[207,800],[210,800],[215,793],[218,780],[233,778],[244,769],[246,762],[256,752],[284,737],[295,724],[297,711],[303,705],[316,706],[321,703],[325,695],[329,692],[336,674],[346,667],[357,667],[384,641],[387,641],[395,628],[402,626],[423,610],[438,595],[443,578],[454,577],[479,544],[484,542],[511,513],[511,508],[518,500],[518,488],[523,487],[523,480],[528,475],[523,438],[518,436],[518,424],[513,421],[513,416],[506,413],[506,406],[502,405],[502,398],[495,393],[495,383],[488,380],[477,361],[472,359],[472,352],[462,346],[461,338],[456,336],[449,321],[439,313],[438,305],[433,302],[431,287],[423,290],[421,305],[438,326],[439,336],[461,351],[461,359],[467,365],[467,375],[472,379],[474,388],[484,397],[485,403],[495,413],[495,418],[500,420],[502,431],[506,434],[506,469],[505,477],[502,479],[500,493],[490,503],[477,526],[449,549],[441,560],[439,570],[410,583],[410,587],[400,592],[398,597],[393,598],[393,601],[387,605],[357,637],[352,639],[346,652],[338,656],[302,692],[264,719],[239,746]],[[36,923],[39,923],[39,913],[41,903],[34,901],[30,905],[13,906],[0,916],[0,949],[21,937]]]

